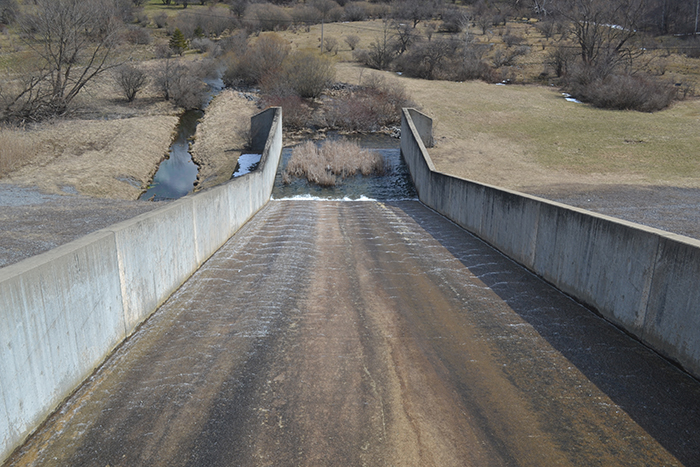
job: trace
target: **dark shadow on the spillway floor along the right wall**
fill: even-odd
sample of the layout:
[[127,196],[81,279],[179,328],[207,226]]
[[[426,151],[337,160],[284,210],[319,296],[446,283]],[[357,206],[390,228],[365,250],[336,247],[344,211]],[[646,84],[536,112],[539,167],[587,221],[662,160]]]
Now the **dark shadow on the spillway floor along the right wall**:
[[[430,217],[439,215],[434,211],[427,214],[418,203],[415,208],[412,203],[393,205],[673,456],[685,466],[700,466],[700,382],[446,218],[436,224]],[[486,248],[475,248],[475,243]]]

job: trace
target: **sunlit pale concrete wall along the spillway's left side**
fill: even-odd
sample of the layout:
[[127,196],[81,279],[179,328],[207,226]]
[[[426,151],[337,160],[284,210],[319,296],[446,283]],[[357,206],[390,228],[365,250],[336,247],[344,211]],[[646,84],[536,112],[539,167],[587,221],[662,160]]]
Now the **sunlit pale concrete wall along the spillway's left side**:
[[251,130],[258,170],[0,269],[0,461],[267,203],[281,109]]

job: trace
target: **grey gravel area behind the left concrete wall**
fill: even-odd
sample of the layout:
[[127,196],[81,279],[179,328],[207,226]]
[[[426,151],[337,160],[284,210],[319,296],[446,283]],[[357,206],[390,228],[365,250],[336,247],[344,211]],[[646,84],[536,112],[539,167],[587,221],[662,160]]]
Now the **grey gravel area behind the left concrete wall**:
[[53,195],[0,184],[0,267],[159,206],[148,201]]

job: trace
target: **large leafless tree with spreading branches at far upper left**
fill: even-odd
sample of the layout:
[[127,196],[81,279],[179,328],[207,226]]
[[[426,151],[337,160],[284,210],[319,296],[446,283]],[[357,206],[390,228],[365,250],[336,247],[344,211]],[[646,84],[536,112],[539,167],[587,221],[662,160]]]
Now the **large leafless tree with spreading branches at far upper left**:
[[14,92],[0,90],[6,118],[62,114],[90,80],[113,66],[123,27],[116,6],[112,0],[36,0],[21,19],[33,66]]

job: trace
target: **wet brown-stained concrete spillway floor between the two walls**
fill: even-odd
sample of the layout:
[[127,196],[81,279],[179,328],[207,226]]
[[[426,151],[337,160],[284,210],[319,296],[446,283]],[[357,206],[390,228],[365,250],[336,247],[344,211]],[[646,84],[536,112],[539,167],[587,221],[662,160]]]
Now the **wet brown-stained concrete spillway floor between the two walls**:
[[417,202],[273,201],[8,465],[699,465],[700,387]]

